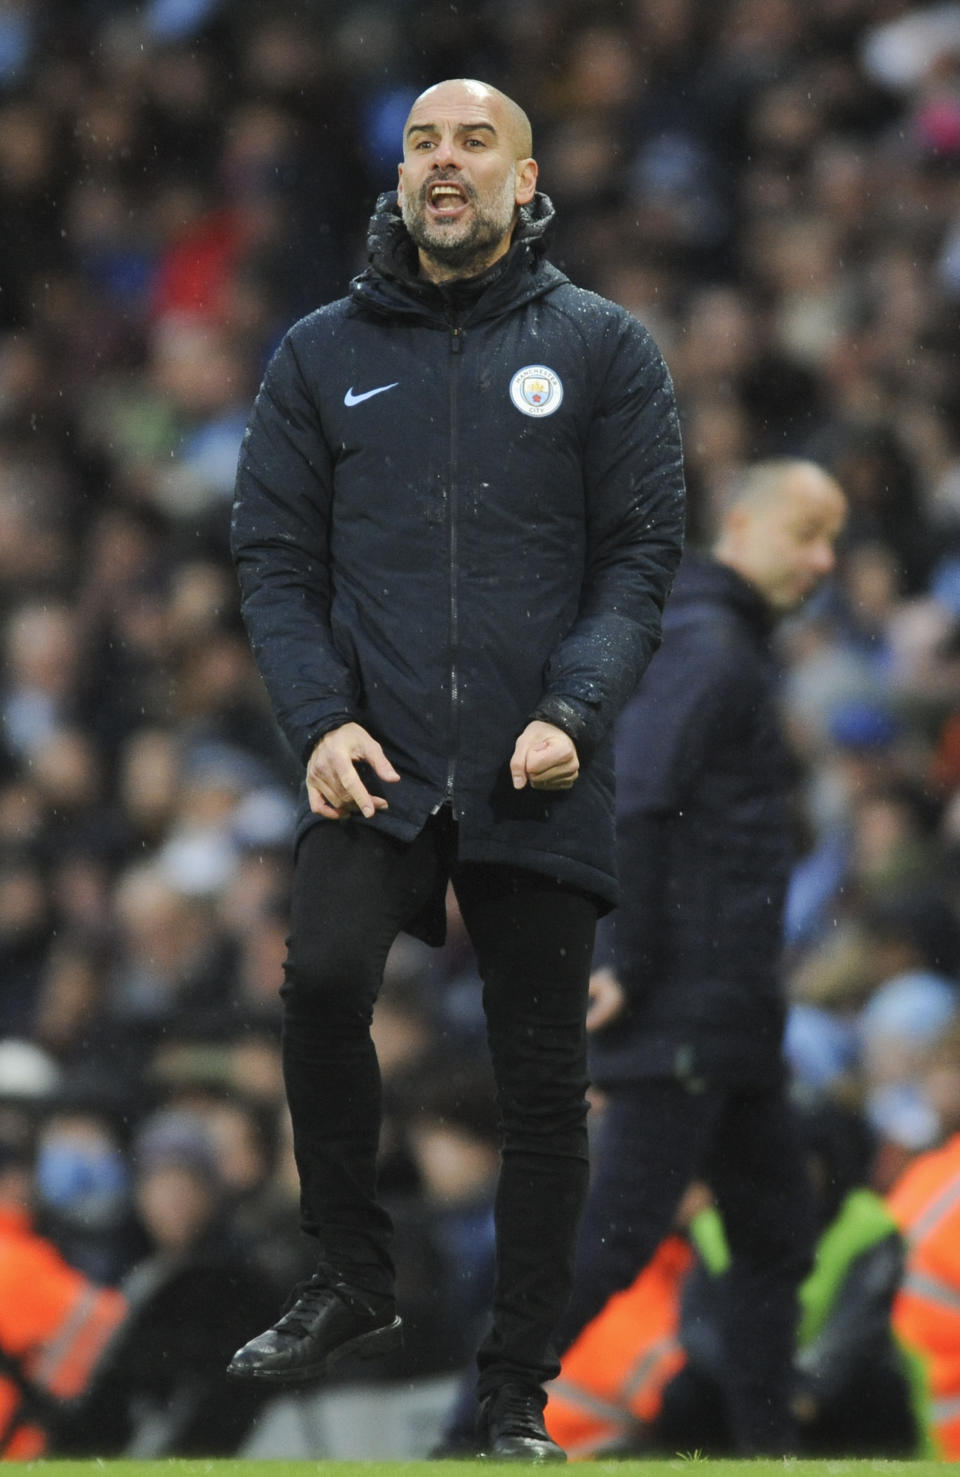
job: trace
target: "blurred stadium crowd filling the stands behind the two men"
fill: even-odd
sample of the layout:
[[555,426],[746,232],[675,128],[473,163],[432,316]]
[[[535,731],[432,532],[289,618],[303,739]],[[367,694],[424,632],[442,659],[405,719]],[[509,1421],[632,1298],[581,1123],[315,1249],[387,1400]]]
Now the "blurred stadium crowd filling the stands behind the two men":
[[[6,0],[0,1140],[106,1284],[214,1241],[267,1298],[309,1272],[276,1044],[298,777],[229,504],[270,352],[362,267],[448,75],[521,100],[552,258],[660,343],[691,539],[761,456],[851,499],[781,632],[790,1060],[864,1115],[880,1190],[960,1127],[960,4]],[[397,945],[377,1032],[399,1372],[437,1374],[496,1165],[455,916]]]

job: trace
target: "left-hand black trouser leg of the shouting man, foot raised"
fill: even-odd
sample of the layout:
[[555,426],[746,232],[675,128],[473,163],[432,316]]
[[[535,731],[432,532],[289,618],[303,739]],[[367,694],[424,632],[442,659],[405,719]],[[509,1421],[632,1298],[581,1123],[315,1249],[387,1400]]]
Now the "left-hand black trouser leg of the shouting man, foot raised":
[[284,998],[284,1078],[303,1229],[322,1263],[393,1292],[390,1217],[377,1199],[381,1090],[371,1040],[387,953],[437,885],[436,827],[409,843],[323,821],[300,842]]

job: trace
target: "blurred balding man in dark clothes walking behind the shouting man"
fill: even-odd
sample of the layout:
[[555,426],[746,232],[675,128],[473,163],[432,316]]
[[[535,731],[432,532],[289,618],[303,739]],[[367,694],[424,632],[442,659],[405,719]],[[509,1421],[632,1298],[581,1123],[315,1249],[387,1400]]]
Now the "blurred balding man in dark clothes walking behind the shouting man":
[[725,1393],[743,1453],[795,1443],[812,1241],[781,1052],[789,762],[771,635],[833,569],[845,508],[812,462],[749,468],[710,557],[684,558],[617,728],[623,901],[588,1019],[607,1106],[561,1343],[632,1284],[706,1180],[731,1248]]

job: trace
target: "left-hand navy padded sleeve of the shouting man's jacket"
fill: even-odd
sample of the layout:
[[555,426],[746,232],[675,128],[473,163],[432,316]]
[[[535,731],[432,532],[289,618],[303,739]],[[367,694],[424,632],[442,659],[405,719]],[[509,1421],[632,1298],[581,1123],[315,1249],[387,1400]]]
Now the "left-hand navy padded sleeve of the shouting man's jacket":
[[267,368],[244,437],[230,548],[254,659],[306,762],[350,721],[356,690],[329,626],[332,456],[294,335]]

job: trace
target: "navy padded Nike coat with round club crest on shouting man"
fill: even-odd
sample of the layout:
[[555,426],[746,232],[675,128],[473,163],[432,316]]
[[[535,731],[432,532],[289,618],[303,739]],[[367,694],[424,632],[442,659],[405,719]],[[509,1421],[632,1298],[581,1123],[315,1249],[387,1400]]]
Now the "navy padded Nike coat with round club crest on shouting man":
[[[380,201],[369,267],[267,369],[232,548],[294,752],[354,719],[402,775],[365,772],[390,808],[347,824],[412,839],[446,801],[462,860],[613,901],[611,728],[660,640],[681,445],[659,350],[546,261],[551,217],[536,196],[508,257],[445,291]],[[566,793],[511,787],[535,715],[577,743]],[[318,821],[304,790],[298,833]]]

